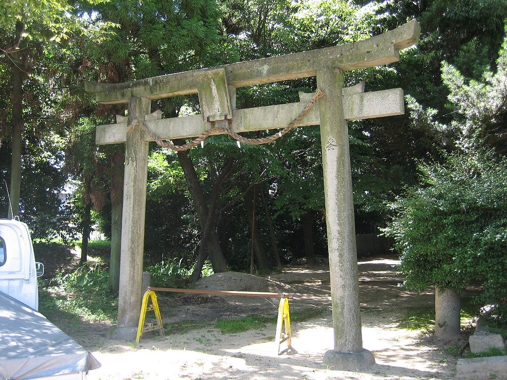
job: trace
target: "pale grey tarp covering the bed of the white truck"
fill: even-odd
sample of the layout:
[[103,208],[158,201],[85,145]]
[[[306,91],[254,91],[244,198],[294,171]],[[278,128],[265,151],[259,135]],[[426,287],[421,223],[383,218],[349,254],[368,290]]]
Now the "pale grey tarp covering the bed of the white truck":
[[0,380],[87,372],[100,363],[42,314],[0,292]]

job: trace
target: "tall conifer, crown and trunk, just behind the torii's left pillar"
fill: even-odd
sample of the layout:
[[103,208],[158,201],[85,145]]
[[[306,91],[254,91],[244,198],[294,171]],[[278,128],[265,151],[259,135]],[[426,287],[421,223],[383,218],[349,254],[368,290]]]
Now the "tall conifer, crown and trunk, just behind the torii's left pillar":
[[[77,14],[94,22],[110,23],[110,37],[87,49],[88,72],[94,80],[121,83],[199,68],[204,52],[216,40],[214,2],[115,0],[102,4],[83,2]],[[154,101],[153,109],[175,116],[181,98]],[[98,115],[124,115],[125,107],[101,106]],[[110,288],[118,290],[123,187],[123,148],[108,149],[113,162],[110,172],[112,201],[112,245]],[[109,219],[109,217],[107,217]]]

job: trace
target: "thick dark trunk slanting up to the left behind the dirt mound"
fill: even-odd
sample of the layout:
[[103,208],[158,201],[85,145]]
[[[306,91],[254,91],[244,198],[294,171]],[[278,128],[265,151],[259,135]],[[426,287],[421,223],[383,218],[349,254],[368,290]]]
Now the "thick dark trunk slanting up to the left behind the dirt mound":
[[[184,140],[173,140],[175,144],[184,144]],[[197,212],[197,216],[199,218],[199,223],[201,224],[202,231],[206,228],[206,219],[208,217],[208,206],[206,205],[206,200],[204,199],[204,193],[202,191],[202,187],[199,183],[199,178],[194,168],[194,163],[188,156],[188,151],[178,151],[177,153],[179,163],[182,165],[183,173],[185,174],[185,179],[187,180],[187,184],[189,186],[190,194],[192,195],[192,199],[194,200],[195,209]],[[220,246],[220,241],[218,236],[216,235],[215,229],[212,229],[209,232],[209,239],[207,242],[208,254],[211,264],[213,265],[213,272],[227,272],[227,262],[225,261],[224,254],[222,252],[222,247]]]

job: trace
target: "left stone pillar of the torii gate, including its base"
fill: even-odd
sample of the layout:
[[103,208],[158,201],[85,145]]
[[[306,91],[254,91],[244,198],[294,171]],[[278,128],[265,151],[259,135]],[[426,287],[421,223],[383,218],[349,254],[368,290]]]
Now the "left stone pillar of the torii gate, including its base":
[[[150,107],[150,99],[130,98],[127,125],[144,122],[144,117],[150,113]],[[127,132],[125,144],[118,325],[108,331],[109,337],[117,339],[136,338],[141,307],[148,175],[148,142],[143,141],[143,136],[144,132],[137,126]]]

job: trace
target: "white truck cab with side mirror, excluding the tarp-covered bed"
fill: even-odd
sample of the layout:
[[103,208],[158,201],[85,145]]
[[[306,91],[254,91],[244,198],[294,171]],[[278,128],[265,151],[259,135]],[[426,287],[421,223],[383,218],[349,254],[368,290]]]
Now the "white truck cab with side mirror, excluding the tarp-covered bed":
[[0,291],[39,310],[37,277],[44,265],[35,262],[28,226],[15,219],[0,219]]

